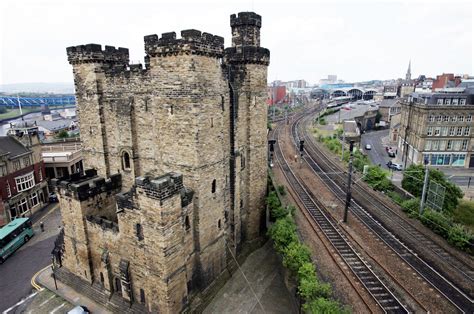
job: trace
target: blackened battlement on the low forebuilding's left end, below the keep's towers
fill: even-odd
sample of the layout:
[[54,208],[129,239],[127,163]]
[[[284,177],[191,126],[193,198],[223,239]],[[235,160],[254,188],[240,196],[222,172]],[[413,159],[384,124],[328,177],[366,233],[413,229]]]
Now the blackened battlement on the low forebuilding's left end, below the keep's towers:
[[120,189],[122,186],[122,175],[115,173],[108,179],[105,179],[97,176],[96,170],[88,169],[85,175],[76,173],[68,179],[53,179],[51,182],[60,193],[69,195],[79,201],[85,201],[98,194]]

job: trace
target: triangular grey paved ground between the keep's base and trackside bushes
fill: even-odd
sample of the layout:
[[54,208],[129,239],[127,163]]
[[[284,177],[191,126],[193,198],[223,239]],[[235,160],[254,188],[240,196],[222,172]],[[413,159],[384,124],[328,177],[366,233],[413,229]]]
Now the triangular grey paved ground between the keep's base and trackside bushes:
[[283,283],[281,264],[270,241],[249,255],[241,270],[218,292],[204,314],[298,313]]

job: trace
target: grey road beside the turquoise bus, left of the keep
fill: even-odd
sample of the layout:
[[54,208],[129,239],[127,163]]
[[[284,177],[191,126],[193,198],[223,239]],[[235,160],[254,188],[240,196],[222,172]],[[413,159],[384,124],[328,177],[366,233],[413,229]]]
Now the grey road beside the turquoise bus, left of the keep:
[[42,217],[45,232],[34,224],[35,236],[0,265],[0,313],[32,292],[31,277],[51,264],[51,250],[61,226],[59,208],[49,208]]

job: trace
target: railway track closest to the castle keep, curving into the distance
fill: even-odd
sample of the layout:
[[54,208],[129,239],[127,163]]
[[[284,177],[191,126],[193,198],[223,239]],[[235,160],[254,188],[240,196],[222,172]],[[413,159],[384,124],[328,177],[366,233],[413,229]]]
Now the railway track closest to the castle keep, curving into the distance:
[[[275,130],[277,138],[279,136],[279,131],[280,127]],[[346,263],[352,273],[359,279],[380,308],[385,313],[408,313],[409,311],[406,306],[400,302],[394,293],[372,271],[371,266],[361,258],[360,254],[341,232],[337,224],[328,217],[325,211],[321,208],[321,205],[312,197],[304,183],[296,177],[281,152],[280,141],[278,140],[275,149],[275,159],[280,165],[291,188],[303,204],[305,210],[316,222],[335,251]]]

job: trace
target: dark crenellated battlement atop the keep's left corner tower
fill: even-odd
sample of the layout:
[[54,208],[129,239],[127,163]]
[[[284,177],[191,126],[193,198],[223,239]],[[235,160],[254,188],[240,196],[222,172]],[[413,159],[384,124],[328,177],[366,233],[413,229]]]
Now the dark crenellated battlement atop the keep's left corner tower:
[[112,63],[128,65],[128,48],[115,48],[98,44],[87,44],[66,48],[67,58],[70,64],[80,63]]

